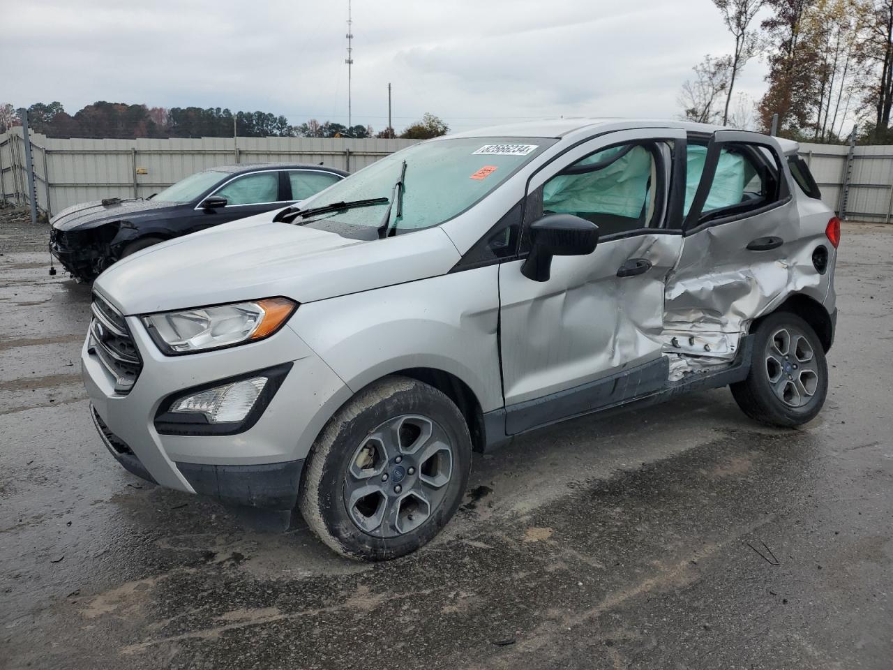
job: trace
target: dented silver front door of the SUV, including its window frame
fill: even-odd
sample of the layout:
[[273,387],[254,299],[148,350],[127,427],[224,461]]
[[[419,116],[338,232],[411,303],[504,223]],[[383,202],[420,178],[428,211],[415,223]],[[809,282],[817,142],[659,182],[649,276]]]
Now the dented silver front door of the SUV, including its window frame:
[[[669,148],[684,138],[683,131],[674,129],[610,133],[573,148],[531,178],[526,225],[544,210],[579,215],[583,213],[575,208],[583,208],[591,214],[591,221],[602,222],[602,226],[596,250],[590,255],[555,256],[548,281],[524,277],[522,260],[500,267],[500,344],[510,434],[563,418],[563,412],[573,415],[588,411],[604,394],[583,398],[582,404],[569,401],[567,395],[578,394],[580,398],[580,394],[593,389],[594,383],[640,364],[659,362],[662,357],[664,280],[678,259],[681,245],[678,230],[663,228],[670,211]],[[623,198],[641,193],[644,167],[636,168],[638,174],[632,175],[638,186],[624,175],[608,177],[611,191],[606,195],[593,196],[579,192],[585,188],[575,191],[566,184],[555,186],[560,172],[590,157],[601,160],[599,155],[606,148],[621,147],[620,152],[624,143],[652,139],[660,141],[665,157],[660,168],[663,177],[658,179],[656,166],[647,177],[650,197],[640,218],[650,227],[637,228],[634,223],[639,214],[638,201],[630,205],[629,211],[623,211],[628,205]],[[634,147],[625,160],[631,165],[640,157],[641,152]],[[621,168],[615,163],[613,169]],[[549,187],[545,189],[545,205],[538,199],[544,197],[544,185]],[[559,191],[563,186],[572,197],[562,199]],[[660,197],[656,197],[658,193]],[[576,204],[549,208],[549,202],[568,203],[571,199]],[[661,205],[657,205],[658,200]],[[537,202],[539,211],[531,211],[537,209]],[[658,206],[661,211],[656,211]],[[652,207],[655,211],[651,211]],[[600,216],[600,208],[629,216]],[[623,230],[624,219],[630,220],[626,226],[630,230]],[[541,409],[543,401],[550,402],[556,394],[561,399],[554,405],[555,415],[530,418],[526,405],[532,403]],[[521,417],[519,421],[512,420],[513,411]]]

